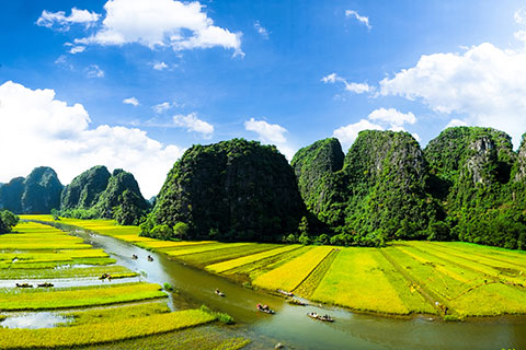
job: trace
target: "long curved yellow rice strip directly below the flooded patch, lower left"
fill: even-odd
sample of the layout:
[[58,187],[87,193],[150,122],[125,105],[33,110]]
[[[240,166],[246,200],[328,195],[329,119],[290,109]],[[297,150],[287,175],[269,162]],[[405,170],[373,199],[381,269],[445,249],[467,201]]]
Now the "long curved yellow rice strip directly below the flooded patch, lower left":
[[199,310],[133,317],[71,327],[42,329],[0,328],[0,348],[76,347],[145,337],[203,325],[215,317]]

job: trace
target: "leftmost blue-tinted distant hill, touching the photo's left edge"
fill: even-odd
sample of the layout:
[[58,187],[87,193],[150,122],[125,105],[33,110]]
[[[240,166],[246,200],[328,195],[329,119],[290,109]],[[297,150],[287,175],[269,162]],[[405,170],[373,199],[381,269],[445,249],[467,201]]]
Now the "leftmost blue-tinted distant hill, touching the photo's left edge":
[[61,190],[53,168],[35,167],[26,178],[13,178],[0,188],[0,207],[15,213],[49,213],[59,208]]

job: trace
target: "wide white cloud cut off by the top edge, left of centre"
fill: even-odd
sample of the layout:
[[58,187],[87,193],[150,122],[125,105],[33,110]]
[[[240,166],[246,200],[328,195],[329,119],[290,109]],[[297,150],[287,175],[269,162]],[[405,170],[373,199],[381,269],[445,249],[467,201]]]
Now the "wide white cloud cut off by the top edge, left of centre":
[[199,2],[174,0],[111,0],[104,4],[106,16],[102,27],[91,36],[76,39],[89,45],[124,45],[137,43],[151,49],[174,50],[220,46],[241,50],[241,33],[215,26]]

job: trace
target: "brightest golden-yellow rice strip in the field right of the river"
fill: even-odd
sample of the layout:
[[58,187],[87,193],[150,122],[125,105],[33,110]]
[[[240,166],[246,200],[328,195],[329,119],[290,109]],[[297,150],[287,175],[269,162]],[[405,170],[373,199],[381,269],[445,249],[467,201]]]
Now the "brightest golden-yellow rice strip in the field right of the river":
[[252,284],[267,289],[296,289],[320,264],[333,247],[319,246],[288,261],[287,264],[258,277]]

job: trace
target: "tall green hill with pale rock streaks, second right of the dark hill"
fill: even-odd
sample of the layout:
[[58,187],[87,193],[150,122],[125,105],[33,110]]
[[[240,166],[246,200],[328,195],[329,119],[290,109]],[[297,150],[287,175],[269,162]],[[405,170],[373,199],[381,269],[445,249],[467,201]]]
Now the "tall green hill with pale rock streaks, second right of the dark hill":
[[408,132],[362,131],[343,170],[347,231],[386,238],[424,236],[434,210],[425,192],[427,166]]

